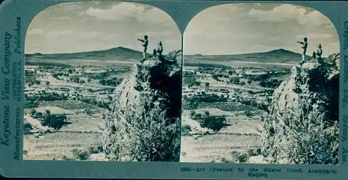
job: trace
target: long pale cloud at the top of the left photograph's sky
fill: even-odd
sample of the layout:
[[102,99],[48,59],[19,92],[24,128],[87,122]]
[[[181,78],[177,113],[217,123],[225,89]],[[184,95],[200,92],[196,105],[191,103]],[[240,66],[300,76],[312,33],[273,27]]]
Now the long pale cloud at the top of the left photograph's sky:
[[109,9],[88,8],[79,15],[88,15],[101,20],[136,20],[137,22],[171,22],[164,11],[136,3],[118,3]]

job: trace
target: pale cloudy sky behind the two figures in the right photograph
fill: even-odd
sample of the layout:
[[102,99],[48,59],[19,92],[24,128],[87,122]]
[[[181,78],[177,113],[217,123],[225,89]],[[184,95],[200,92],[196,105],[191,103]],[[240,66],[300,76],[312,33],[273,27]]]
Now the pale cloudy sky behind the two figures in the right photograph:
[[207,8],[184,31],[184,54],[244,54],[287,49],[308,38],[308,55],[322,44],[323,56],[338,53],[338,35],[317,10],[280,3],[235,3]]

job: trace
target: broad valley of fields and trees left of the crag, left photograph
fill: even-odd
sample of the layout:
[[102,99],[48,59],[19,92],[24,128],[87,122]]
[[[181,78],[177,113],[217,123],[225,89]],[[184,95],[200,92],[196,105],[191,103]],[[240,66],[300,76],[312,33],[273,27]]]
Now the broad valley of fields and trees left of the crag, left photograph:
[[102,113],[133,63],[27,61],[24,159],[106,161]]

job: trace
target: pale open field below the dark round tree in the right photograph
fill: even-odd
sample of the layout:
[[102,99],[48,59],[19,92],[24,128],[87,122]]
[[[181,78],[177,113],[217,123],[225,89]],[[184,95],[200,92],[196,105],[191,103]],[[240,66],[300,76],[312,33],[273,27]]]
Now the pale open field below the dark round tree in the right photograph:
[[[207,135],[188,135],[181,139],[180,162],[209,163],[235,162],[235,152],[247,153],[248,149],[261,147],[260,120],[248,117],[227,117],[228,126],[219,132]],[[189,122],[188,122],[189,121]],[[192,129],[205,131],[194,124],[189,117],[182,117],[182,125],[189,124]],[[198,126],[198,127],[197,127]]]

